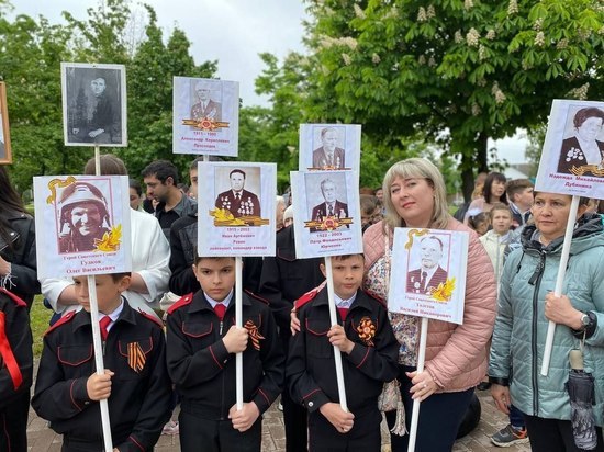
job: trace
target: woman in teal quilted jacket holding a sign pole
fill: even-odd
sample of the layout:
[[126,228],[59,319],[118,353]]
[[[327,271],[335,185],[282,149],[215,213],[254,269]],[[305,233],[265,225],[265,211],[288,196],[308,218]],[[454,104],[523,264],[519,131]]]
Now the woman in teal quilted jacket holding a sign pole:
[[[522,234],[503,270],[489,375],[496,407],[513,403],[525,416],[534,452],[579,451],[570,403],[569,351],[583,348],[585,372],[595,377],[597,451],[604,451],[604,228],[600,216],[584,214],[581,199],[562,295],[553,289],[570,214],[571,196],[534,193],[535,225]],[[585,201],[585,202],[583,202]],[[548,320],[557,324],[549,373],[541,376]]]

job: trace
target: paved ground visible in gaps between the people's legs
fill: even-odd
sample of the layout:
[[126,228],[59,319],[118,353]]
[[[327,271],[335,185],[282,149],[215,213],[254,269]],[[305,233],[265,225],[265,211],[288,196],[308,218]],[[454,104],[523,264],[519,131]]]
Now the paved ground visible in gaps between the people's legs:
[[[506,419],[502,414],[495,410],[491,397],[488,392],[478,393],[482,405],[482,417],[480,423],[467,437],[457,441],[455,452],[484,452],[484,451],[510,451],[510,452],[527,452],[530,451],[528,444],[501,449],[494,447],[490,437],[500,428],[506,425]],[[276,405],[273,405],[265,415],[262,423],[262,452],[281,452],[284,451],[286,437],[283,429],[283,417]],[[46,421],[38,418],[33,410],[30,413],[30,421],[27,426],[27,436],[30,440],[31,452],[59,452],[60,437],[46,427]],[[382,451],[390,451],[390,440],[384,429],[382,429],[383,445]],[[161,436],[156,452],[178,451],[178,437]],[[200,450],[203,452],[202,450]]]

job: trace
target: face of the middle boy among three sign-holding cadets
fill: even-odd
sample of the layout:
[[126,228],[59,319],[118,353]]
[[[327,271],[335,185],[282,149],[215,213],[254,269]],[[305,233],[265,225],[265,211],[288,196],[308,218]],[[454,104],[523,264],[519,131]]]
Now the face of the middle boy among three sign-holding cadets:
[[212,300],[222,302],[235,285],[235,260],[232,258],[201,259],[193,264],[193,273]]

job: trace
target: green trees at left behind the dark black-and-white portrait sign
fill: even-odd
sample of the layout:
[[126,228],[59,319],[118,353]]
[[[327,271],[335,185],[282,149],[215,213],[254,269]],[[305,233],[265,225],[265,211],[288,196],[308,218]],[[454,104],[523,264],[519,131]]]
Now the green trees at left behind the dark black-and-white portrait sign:
[[64,12],[65,23],[53,25],[43,16],[9,20],[10,10],[0,0],[0,79],[7,82],[11,177],[19,190],[31,187],[33,176],[79,173],[92,157],[89,147],[64,145],[61,61],[124,64],[128,147],[103,151],[122,157],[135,178],[158,158],[187,172],[191,156],[171,151],[172,77],[213,77],[216,63],[195,65],[184,32],[175,29],[165,42],[155,11],[144,5],[145,34],[133,43],[135,14],[124,0],[105,0],[83,20]]

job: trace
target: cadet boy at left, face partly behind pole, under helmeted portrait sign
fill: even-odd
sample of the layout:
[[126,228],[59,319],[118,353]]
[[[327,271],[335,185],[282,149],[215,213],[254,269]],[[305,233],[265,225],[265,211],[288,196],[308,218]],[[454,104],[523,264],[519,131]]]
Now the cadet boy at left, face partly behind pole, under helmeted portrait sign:
[[159,320],[135,312],[121,295],[130,280],[128,273],[96,276],[104,374],[96,373],[87,276],[74,278],[83,309],[64,316],[44,336],[32,406],[63,434],[64,452],[104,449],[101,399],[109,398],[114,451],[153,450],[168,420],[164,331]]

